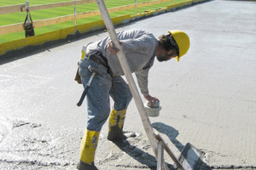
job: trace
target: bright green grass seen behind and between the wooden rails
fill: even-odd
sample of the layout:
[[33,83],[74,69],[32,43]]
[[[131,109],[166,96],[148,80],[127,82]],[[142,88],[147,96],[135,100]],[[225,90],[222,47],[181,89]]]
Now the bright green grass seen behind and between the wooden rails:
[[[144,2],[149,2],[152,0],[137,0],[137,3],[144,3]],[[154,10],[157,8],[165,8],[167,5],[171,5],[173,3],[181,3],[187,0],[172,0],[168,3],[159,3],[155,4],[152,6],[146,6],[143,8],[137,8],[137,13],[142,13],[144,10]],[[48,3],[60,3],[60,2],[67,2],[65,0],[31,0],[29,1],[29,5],[39,5],[39,4],[48,4]],[[15,0],[15,1],[6,1],[6,0],[0,0],[0,6],[7,6],[7,5],[15,5],[15,4],[24,4],[26,3],[25,0]],[[124,6],[124,5],[129,5],[129,4],[134,4],[135,0],[107,0],[105,1],[107,8],[113,8],[113,7],[119,7],[119,6]],[[89,12],[92,10],[98,10],[98,7],[96,3],[85,3],[85,4],[80,4],[77,6],[77,13],[84,13],[84,12]],[[61,7],[61,8],[48,8],[48,9],[41,9],[41,10],[35,10],[31,11],[32,15],[32,20],[45,20],[49,18],[54,18],[54,17],[59,17],[63,15],[68,15],[68,14],[74,14],[74,7],[73,6],[67,6],[67,7]],[[116,12],[113,14],[110,14],[111,17],[116,17],[120,16],[123,14],[135,14],[135,9],[130,9],[130,10],[125,10],[125,11],[120,11]],[[17,24],[17,23],[22,23],[24,22],[26,18],[26,13],[24,12],[19,12],[19,13],[14,13],[14,14],[1,14],[0,15],[0,26],[7,26],[11,24]],[[100,16],[94,16],[90,18],[85,18],[81,20],[77,20],[77,25],[83,25],[86,23],[90,23],[96,20],[101,20]],[[67,21],[61,24],[56,24],[52,26],[44,26],[40,28],[35,28],[35,33],[36,35],[39,34],[44,34],[46,32],[50,31],[56,31],[60,30],[63,28],[71,27],[74,26],[74,21]],[[6,35],[0,36],[0,43],[3,42],[10,42],[14,41],[17,39],[21,39],[25,37],[25,31],[19,31],[19,32],[14,32],[14,33],[9,33]]]

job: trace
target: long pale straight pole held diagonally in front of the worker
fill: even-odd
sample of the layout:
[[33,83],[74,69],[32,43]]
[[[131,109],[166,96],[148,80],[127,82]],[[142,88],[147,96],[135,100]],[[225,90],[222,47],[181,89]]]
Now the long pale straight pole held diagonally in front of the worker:
[[[143,122],[143,127],[145,129],[145,132],[147,133],[149,142],[151,144],[151,147],[154,151],[154,155],[156,159],[160,159],[160,169],[161,170],[166,170],[168,169],[166,166],[165,161],[163,160],[163,156],[158,156],[158,150],[160,150],[160,154],[163,153],[162,148],[166,148],[166,144],[163,141],[163,139],[159,138],[158,136],[155,135],[153,127],[151,126],[151,123],[149,121],[149,118],[147,116],[147,113],[145,111],[145,108],[143,106],[143,99],[141,98],[136,83],[134,82],[133,77],[131,76],[131,69],[128,65],[128,62],[125,58],[125,53],[123,51],[122,46],[119,44],[119,38],[117,37],[116,31],[114,30],[113,27],[113,22],[110,19],[110,16],[108,14],[108,10],[106,8],[106,5],[103,0],[96,0],[96,3],[101,11],[102,14],[102,19],[105,23],[105,26],[107,27],[109,37],[111,38],[114,47],[119,49],[119,53],[117,54],[119,58],[120,65],[122,66],[122,69],[125,73],[125,77],[127,79],[129,88],[131,89],[131,94],[133,96],[133,99],[135,100],[135,103],[137,105],[137,110],[139,111],[139,114],[141,116],[142,122]],[[160,139],[160,140],[159,140]],[[174,156],[175,157],[175,156]],[[164,164],[164,165],[163,165]],[[180,167],[180,166],[178,166]],[[182,168],[183,169],[183,168]]]

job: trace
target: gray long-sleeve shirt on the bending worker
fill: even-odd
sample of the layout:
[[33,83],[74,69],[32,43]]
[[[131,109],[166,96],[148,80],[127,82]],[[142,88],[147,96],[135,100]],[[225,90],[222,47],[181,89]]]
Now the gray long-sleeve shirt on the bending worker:
[[[131,72],[135,72],[137,82],[142,94],[148,95],[148,71],[154,63],[154,56],[158,47],[158,40],[153,34],[142,30],[121,31],[117,34],[119,40],[123,42],[123,51],[130,66]],[[123,76],[124,72],[115,55],[108,54],[107,44],[110,37],[106,37],[98,42],[88,44],[85,54],[96,54],[101,51],[108,59],[108,65],[113,72],[113,77]]]

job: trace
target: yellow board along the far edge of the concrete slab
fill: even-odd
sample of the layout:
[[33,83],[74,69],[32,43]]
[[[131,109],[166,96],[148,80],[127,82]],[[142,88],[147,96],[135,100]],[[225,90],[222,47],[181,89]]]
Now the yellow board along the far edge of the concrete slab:
[[[146,17],[154,16],[177,10],[178,8],[185,8],[196,3],[204,3],[211,0],[189,0],[183,3],[175,3],[167,6],[166,8],[160,8],[152,11],[145,11],[143,14],[137,14],[132,16],[131,14],[125,14],[119,17],[113,18],[113,25],[118,26],[129,23],[131,20],[141,20]],[[36,35],[33,37],[26,37],[12,42],[4,42],[0,44],[0,59],[8,57],[12,54],[17,54],[21,51],[33,50],[35,47],[43,46],[44,44],[56,41],[63,41],[67,38],[79,37],[79,35],[88,33],[90,31],[99,31],[105,29],[103,20],[91,22],[80,26],[72,26],[64,28],[58,31],[47,32],[44,34]]]

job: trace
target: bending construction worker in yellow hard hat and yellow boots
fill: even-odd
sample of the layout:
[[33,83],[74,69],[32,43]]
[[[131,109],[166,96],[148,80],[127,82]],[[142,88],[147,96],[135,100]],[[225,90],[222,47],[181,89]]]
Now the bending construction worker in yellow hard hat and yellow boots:
[[[144,98],[150,102],[158,100],[148,93],[148,71],[154,59],[177,61],[189,50],[189,37],[183,31],[168,31],[156,39],[153,34],[142,30],[121,31],[117,34],[131,72],[135,72]],[[87,98],[87,125],[80,148],[78,169],[97,169],[94,164],[96,146],[103,124],[108,120],[108,140],[125,139],[123,127],[126,109],[132,99],[131,91],[121,76],[124,75],[119,52],[109,37],[91,42],[83,47],[79,62],[79,75],[84,87],[90,80],[89,65],[102,72],[90,84]],[[110,111],[109,96],[114,101]]]

